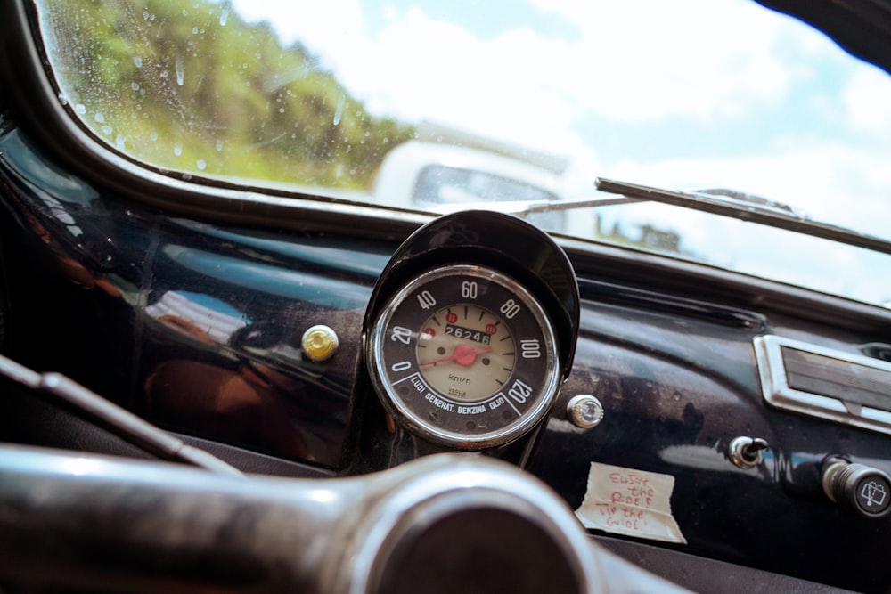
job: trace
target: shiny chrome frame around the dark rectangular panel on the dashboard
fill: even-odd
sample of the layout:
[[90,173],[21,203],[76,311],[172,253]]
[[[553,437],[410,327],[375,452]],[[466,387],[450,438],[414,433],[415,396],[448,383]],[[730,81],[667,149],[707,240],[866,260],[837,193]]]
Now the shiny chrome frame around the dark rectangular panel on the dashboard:
[[888,373],[891,373],[891,363],[774,335],[756,337],[754,346],[762,394],[767,403],[778,409],[891,435],[891,394],[888,395],[888,410],[882,410],[789,387],[781,349],[786,346]]

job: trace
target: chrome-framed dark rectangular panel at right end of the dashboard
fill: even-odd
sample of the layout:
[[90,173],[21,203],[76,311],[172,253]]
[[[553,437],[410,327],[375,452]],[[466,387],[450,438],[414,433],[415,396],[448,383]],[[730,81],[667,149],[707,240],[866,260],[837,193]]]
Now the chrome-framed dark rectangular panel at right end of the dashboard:
[[755,354],[773,406],[891,434],[891,362],[777,336],[756,338]]

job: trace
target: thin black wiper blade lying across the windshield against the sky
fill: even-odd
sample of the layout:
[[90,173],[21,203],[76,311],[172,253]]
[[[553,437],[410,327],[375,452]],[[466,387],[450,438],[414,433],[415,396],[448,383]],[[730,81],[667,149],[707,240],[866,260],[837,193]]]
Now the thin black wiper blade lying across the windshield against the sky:
[[806,216],[797,214],[790,207],[769,200],[764,200],[765,204],[759,204],[751,199],[740,199],[726,194],[719,197],[703,192],[661,190],[601,177],[597,178],[594,183],[600,191],[621,194],[628,199],[662,202],[676,207],[692,208],[713,215],[730,216],[741,221],[764,224],[777,229],[786,229],[825,240],[846,243],[857,248],[891,254],[891,240],[884,240],[834,224],[813,221]]

